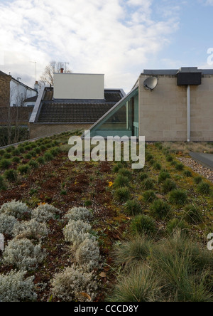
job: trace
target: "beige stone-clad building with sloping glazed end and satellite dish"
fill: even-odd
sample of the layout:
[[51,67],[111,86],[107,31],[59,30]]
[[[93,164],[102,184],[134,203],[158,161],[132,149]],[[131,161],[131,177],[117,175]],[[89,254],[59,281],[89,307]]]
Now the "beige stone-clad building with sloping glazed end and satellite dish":
[[[154,88],[146,86],[152,79]],[[213,142],[213,70],[144,70],[133,90],[90,132],[145,136],[148,142]]]

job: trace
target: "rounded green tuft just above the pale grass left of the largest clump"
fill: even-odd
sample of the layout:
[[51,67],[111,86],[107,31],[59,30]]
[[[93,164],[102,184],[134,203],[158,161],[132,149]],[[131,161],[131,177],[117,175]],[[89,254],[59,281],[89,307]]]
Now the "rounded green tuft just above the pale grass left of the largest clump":
[[152,236],[156,232],[155,221],[149,216],[138,215],[131,222],[131,231],[134,235]]

